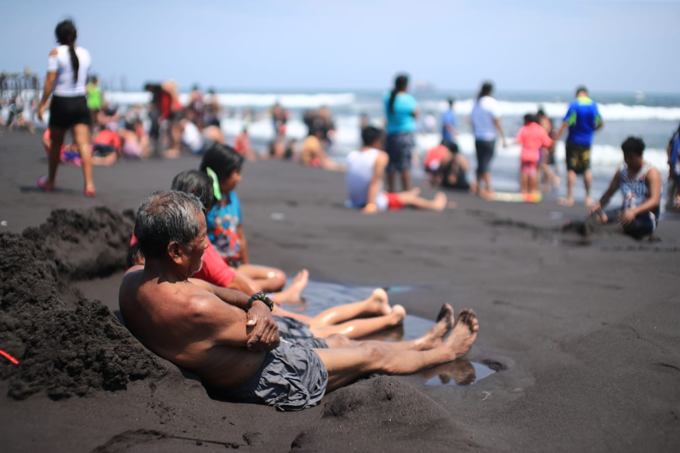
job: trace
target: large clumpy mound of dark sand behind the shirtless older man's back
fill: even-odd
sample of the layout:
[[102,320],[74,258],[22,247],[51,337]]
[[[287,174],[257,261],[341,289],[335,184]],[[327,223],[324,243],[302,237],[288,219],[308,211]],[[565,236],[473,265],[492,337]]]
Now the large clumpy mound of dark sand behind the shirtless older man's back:
[[0,349],[20,361],[0,362],[8,396],[83,396],[167,373],[108,308],[71,285],[122,270],[132,228],[132,215],[97,207],[55,210],[22,236],[0,234]]

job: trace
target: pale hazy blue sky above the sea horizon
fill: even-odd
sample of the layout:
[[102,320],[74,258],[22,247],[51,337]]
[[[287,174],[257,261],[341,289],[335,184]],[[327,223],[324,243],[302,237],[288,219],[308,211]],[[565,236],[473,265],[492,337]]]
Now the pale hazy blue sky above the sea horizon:
[[680,92],[679,1],[12,1],[0,70],[44,75],[72,17],[92,70],[138,90],[173,78],[225,90],[438,88]]

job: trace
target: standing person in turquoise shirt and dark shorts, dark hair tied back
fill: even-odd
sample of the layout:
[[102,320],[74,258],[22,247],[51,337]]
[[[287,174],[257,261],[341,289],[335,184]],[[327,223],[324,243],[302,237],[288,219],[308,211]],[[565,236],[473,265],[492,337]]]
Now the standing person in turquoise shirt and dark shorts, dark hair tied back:
[[387,189],[394,192],[394,173],[401,174],[401,189],[411,189],[411,153],[415,140],[413,132],[417,128],[418,103],[407,93],[409,77],[401,74],[394,80],[394,88],[385,93],[385,115],[387,117],[387,137],[385,151],[390,156],[387,164]]

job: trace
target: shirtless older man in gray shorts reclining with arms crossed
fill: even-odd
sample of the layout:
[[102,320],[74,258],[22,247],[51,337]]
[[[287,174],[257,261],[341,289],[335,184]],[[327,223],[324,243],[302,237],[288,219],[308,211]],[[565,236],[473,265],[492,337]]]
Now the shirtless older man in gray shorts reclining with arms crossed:
[[475,313],[462,310],[451,328],[446,305],[441,321],[411,342],[330,336],[319,346],[279,344],[267,297],[249,299],[227,289],[216,294],[190,280],[208,244],[198,198],[176,191],[148,196],[137,211],[135,236],[146,265],[129,271],[120,286],[127,327],[160,357],[236,401],[301,410],[362,376],[410,374],[452,361],[477,337]]

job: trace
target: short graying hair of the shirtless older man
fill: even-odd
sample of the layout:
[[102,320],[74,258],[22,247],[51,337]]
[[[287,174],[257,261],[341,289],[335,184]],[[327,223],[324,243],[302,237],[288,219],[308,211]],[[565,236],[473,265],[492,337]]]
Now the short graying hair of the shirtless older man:
[[139,249],[147,258],[160,258],[170,242],[188,244],[201,232],[197,214],[203,215],[203,204],[193,194],[164,190],[144,198],[135,222]]

